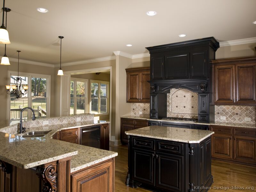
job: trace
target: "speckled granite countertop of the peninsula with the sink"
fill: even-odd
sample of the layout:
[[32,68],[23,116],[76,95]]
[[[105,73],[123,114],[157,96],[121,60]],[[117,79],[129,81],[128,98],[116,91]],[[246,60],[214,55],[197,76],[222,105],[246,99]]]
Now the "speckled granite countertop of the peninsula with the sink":
[[[0,159],[19,168],[28,169],[65,157],[71,158],[71,173],[117,156],[116,152],[54,140],[52,136],[60,130],[81,126],[109,123],[108,121],[84,121],[32,127],[27,132],[51,130],[44,137],[23,138],[22,134],[0,132]],[[24,135],[24,134],[23,134]],[[53,147],[54,146],[54,147]]]

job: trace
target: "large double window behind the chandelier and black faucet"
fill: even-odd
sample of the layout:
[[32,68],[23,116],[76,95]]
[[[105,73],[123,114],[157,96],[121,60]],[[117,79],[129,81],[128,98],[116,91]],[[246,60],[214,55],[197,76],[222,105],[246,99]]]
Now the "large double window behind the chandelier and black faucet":
[[[14,78],[17,77],[16,72],[8,72],[10,76],[10,83],[14,85]],[[20,73],[22,79],[22,85],[28,85],[28,93],[20,95],[20,98],[16,98],[13,95],[9,95],[10,99],[8,105],[10,106],[10,113],[7,114],[7,118],[11,124],[19,123],[20,111],[22,108],[31,107],[35,111],[37,118],[44,118],[50,116],[50,75],[39,75]],[[12,91],[12,89],[10,90]],[[24,93],[24,90],[21,89]],[[22,119],[31,119],[32,112],[25,110],[22,114]]]

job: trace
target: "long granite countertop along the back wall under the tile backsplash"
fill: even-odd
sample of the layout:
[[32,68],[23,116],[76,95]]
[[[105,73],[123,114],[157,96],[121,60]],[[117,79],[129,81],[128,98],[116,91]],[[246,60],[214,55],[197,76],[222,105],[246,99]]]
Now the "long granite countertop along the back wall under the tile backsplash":
[[165,122],[173,122],[173,123],[187,123],[187,124],[200,124],[200,125],[221,125],[221,126],[244,127],[244,128],[256,129],[256,124],[250,124],[250,123],[229,123],[229,122],[198,123],[198,122],[175,121],[175,120],[166,120],[166,119],[150,119],[149,116],[121,116],[121,117],[130,118],[130,119],[145,119],[148,121],[165,121]]

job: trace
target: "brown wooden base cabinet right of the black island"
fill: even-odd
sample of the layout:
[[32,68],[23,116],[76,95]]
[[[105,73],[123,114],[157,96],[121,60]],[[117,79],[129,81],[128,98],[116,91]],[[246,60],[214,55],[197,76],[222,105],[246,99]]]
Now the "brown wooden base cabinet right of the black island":
[[256,166],[256,129],[211,125],[212,157]]

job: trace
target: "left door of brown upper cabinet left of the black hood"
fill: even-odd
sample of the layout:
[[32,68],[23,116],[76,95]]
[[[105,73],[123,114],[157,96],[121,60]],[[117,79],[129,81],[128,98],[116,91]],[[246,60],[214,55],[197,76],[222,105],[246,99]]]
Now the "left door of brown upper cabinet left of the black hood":
[[126,74],[126,102],[139,102],[140,99],[140,72],[127,72]]

